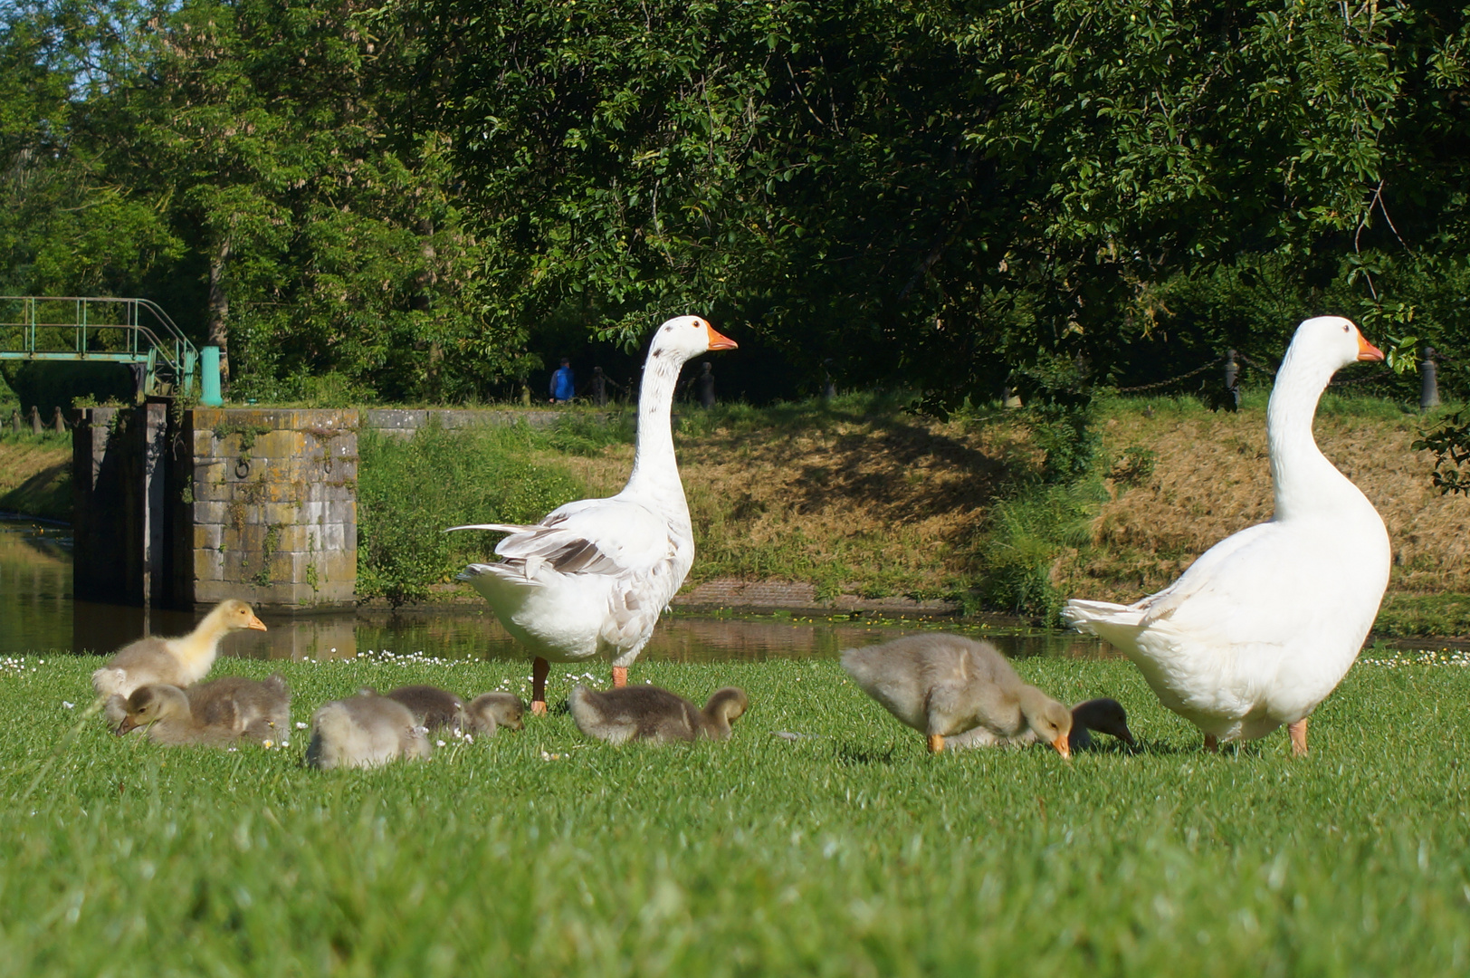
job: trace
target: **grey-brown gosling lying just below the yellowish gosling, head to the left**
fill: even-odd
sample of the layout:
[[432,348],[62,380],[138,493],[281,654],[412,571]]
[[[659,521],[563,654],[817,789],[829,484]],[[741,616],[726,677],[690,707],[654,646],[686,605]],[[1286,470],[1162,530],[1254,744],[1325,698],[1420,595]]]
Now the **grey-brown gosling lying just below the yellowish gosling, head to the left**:
[[223,677],[188,690],[150,684],[126,699],[113,696],[107,713],[119,718],[119,734],[144,728],[156,744],[229,747],[248,740],[269,747],[290,728],[291,688],[279,675],[263,682]]

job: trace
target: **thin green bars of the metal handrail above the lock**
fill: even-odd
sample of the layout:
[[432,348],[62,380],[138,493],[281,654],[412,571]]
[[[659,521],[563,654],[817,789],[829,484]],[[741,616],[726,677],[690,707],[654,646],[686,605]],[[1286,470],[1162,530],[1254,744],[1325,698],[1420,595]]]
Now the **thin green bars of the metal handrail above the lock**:
[[[166,368],[171,382],[184,397],[194,396],[194,372],[198,350],[184,331],[157,303],[147,299],[115,299],[110,296],[0,296],[0,309],[6,303],[21,303],[19,321],[0,321],[0,329],[21,328],[21,349],[0,346],[0,359],[6,360],[93,360],[103,363],[141,365],[141,388],[144,394],[156,394],[160,387],[160,368]],[[54,309],[71,303],[71,322],[41,322],[41,309]],[[110,304],[122,309],[123,322],[93,322],[93,304]],[[147,310],[154,325],[144,325]],[[74,329],[69,350],[43,349],[41,329]],[[93,337],[104,329],[123,331],[122,349],[93,347]],[[147,347],[147,349],[144,349]]]

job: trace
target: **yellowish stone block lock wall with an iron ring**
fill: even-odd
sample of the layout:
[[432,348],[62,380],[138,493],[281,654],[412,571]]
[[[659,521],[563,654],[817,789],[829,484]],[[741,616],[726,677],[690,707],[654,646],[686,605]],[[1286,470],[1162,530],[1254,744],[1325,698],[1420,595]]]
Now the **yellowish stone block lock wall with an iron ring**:
[[[179,581],[193,602],[350,606],[357,585],[356,410],[184,412]],[[185,466],[181,466],[185,468]],[[184,556],[184,554],[178,554]]]

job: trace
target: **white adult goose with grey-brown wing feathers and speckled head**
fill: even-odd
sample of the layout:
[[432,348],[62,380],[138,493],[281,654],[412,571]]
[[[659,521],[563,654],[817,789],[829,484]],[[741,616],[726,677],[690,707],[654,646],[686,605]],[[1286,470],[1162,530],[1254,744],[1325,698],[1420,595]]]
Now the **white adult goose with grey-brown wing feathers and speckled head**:
[[545,713],[551,662],[606,656],[613,685],[626,685],[628,666],[684,584],[694,565],[694,528],[673,454],[673,391],[689,359],[734,349],[734,340],[698,316],[659,326],[638,394],[634,471],[617,496],[567,503],[532,527],[450,528],[510,534],[495,547],[498,563],[472,563],[459,579],[535,656],[532,713]]

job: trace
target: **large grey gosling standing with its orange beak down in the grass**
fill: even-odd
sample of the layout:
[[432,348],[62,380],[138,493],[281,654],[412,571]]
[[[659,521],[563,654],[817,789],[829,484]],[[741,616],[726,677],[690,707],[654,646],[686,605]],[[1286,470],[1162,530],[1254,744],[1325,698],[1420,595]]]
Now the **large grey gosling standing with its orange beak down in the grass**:
[[853,681],[900,722],[928,737],[931,753],[945,737],[970,734],[970,746],[1010,743],[1032,734],[1072,756],[1072,712],[1022,682],[995,646],[958,635],[910,635],[842,653]]

